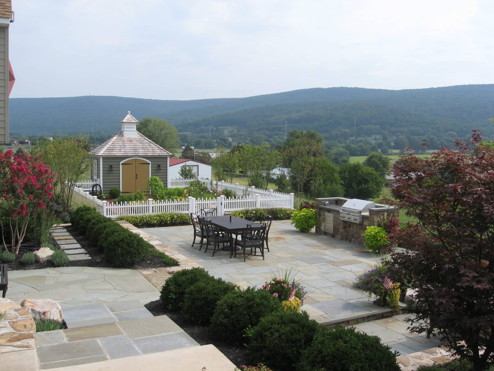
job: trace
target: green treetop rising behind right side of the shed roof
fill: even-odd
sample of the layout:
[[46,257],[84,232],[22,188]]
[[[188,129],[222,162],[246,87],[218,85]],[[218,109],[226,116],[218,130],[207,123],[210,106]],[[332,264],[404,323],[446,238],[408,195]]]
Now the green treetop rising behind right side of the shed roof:
[[145,117],[137,124],[137,131],[168,152],[175,153],[178,149],[177,130],[163,119]]

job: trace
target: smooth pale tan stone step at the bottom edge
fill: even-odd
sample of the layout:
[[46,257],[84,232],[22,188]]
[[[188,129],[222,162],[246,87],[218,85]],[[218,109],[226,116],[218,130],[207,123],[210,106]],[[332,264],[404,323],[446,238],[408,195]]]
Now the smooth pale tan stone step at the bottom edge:
[[181,348],[142,354],[120,359],[111,359],[84,365],[46,369],[48,371],[180,371],[180,370],[232,371],[235,365],[214,345]]

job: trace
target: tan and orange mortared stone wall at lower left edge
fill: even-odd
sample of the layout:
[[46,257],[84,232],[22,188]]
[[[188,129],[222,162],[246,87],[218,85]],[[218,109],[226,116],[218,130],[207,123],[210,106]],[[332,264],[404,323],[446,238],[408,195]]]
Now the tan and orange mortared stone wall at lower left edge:
[[36,324],[31,313],[12,300],[0,298],[0,353],[34,349]]

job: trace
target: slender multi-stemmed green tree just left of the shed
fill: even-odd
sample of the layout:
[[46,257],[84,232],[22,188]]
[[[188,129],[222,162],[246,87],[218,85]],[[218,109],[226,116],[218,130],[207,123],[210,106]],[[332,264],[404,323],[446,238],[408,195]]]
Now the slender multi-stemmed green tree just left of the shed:
[[87,171],[88,145],[83,137],[55,137],[35,147],[42,152],[43,161],[56,174],[57,184],[53,198],[64,211],[70,208],[74,186]]

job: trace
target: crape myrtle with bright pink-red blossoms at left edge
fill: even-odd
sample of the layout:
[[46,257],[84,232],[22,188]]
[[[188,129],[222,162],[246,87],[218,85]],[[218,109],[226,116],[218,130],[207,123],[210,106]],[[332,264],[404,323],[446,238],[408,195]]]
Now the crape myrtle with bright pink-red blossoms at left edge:
[[[54,175],[40,157],[14,156],[11,149],[0,153],[0,228],[5,250],[10,242],[11,251],[19,252],[29,221],[53,196]],[[10,234],[10,241],[5,241],[5,233]]]

